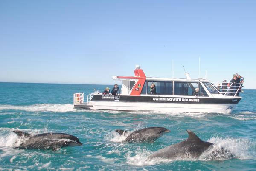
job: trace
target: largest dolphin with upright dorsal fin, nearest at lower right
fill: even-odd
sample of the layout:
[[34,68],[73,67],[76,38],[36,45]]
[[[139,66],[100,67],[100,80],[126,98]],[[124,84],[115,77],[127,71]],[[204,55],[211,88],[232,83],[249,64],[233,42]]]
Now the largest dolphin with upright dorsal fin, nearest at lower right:
[[[211,149],[213,143],[202,141],[194,132],[186,130],[189,134],[188,139],[173,144],[171,146],[165,147],[158,151],[155,151],[147,160],[151,160],[154,157],[177,159],[177,158],[198,158],[204,151]],[[227,153],[227,155],[225,155]],[[233,158],[233,154],[230,151],[221,148],[218,151],[212,152],[212,158],[218,157]]]

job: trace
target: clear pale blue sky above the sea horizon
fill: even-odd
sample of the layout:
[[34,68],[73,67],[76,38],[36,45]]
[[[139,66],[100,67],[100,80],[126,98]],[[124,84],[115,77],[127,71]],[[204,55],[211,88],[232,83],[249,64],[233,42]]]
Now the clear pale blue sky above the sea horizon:
[[256,88],[256,1],[1,0],[0,81],[113,84],[112,75],[244,76]]

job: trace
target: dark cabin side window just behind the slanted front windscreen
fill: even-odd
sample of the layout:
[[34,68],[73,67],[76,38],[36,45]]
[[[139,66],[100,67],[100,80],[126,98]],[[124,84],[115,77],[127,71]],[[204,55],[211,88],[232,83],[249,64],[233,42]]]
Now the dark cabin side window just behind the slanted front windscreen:
[[193,95],[197,82],[174,82],[174,95]]

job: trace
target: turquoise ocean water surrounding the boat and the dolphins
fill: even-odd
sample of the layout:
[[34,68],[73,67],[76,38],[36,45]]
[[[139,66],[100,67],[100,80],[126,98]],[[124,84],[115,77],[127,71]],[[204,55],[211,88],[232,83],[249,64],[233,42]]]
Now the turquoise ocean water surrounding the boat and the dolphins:
[[[256,170],[256,90],[245,89],[231,114],[118,112],[73,109],[73,93],[107,85],[0,83],[0,170]],[[109,86],[109,85],[108,85]],[[163,126],[171,132],[153,143],[125,143],[115,129]],[[18,129],[30,134],[63,132],[82,146],[15,149]],[[151,160],[158,149],[185,140],[186,129],[236,158]]]

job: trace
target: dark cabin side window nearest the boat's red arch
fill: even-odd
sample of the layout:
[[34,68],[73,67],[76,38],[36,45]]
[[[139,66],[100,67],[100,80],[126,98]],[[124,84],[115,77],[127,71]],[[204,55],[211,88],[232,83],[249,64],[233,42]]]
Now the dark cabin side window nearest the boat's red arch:
[[151,94],[150,86],[152,84],[156,86],[156,94],[172,95],[172,84],[173,84],[172,81],[148,81],[147,94]]

